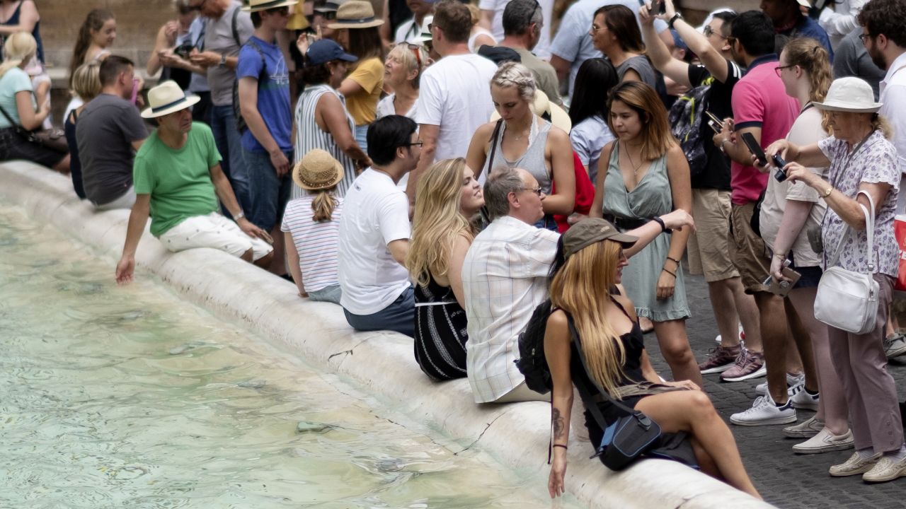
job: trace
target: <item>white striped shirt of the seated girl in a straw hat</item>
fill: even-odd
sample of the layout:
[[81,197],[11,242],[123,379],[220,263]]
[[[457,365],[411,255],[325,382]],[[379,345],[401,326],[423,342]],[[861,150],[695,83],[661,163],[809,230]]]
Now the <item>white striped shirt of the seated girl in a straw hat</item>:
[[336,197],[330,221],[315,223],[312,220],[314,197],[300,197],[286,204],[280,230],[293,235],[293,244],[299,253],[299,268],[306,292],[316,292],[327,286],[340,284],[337,276],[337,241],[340,236],[342,198]]

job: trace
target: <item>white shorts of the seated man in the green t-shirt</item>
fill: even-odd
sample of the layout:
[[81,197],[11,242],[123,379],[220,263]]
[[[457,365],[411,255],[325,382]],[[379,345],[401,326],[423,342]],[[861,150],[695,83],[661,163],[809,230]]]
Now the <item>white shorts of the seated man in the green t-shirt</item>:
[[246,235],[231,219],[217,212],[207,216],[188,217],[160,235],[160,242],[174,253],[196,247],[210,247],[230,255],[242,256],[251,249],[253,261],[274,251],[271,245],[260,238]]

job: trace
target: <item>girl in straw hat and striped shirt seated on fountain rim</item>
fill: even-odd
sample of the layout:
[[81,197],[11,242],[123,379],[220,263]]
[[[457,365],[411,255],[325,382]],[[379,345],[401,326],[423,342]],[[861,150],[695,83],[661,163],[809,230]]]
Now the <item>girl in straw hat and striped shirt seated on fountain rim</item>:
[[283,224],[286,263],[299,296],[340,303],[337,241],[342,197],[335,196],[342,165],[328,152],[312,149],[296,163],[293,180],[308,191],[286,204]]

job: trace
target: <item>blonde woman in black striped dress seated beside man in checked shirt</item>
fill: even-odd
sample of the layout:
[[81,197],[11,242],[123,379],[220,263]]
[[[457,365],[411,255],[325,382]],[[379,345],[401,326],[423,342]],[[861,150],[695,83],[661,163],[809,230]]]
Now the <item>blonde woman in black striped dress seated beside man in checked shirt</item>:
[[462,264],[471,218],[485,205],[466,159],[440,160],[419,178],[406,268],[415,284],[415,360],[430,379],[466,376]]

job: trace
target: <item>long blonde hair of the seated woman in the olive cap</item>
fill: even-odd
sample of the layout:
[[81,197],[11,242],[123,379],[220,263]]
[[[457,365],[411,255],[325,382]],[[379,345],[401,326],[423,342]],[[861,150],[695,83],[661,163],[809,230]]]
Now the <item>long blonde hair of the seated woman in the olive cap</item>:
[[616,284],[622,246],[596,242],[566,259],[551,282],[551,304],[573,316],[591,376],[613,398],[623,376],[626,350],[608,322],[604,302]]

